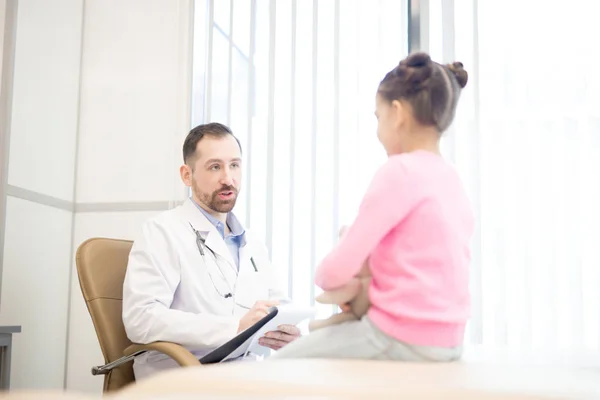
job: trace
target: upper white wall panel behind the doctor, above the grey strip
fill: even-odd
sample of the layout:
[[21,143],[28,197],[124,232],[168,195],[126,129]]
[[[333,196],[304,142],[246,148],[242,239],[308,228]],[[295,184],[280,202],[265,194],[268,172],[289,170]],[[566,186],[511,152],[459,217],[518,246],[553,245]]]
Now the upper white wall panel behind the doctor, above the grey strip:
[[186,4],[86,1],[77,202],[173,199],[189,130]]

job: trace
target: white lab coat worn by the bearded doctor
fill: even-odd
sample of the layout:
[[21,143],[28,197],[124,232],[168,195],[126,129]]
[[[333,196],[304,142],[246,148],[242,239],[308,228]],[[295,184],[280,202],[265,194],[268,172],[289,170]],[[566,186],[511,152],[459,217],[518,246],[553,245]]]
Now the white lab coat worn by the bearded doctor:
[[[190,224],[205,238],[204,256]],[[239,258],[238,272],[225,241],[191,199],[147,221],[131,249],[123,286],[129,339],[175,342],[201,357],[237,334],[240,318],[256,301],[285,299],[266,247],[248,231]],[[136,358],[134,372],[141,379],[174,366],[167,356],[148,352]]]

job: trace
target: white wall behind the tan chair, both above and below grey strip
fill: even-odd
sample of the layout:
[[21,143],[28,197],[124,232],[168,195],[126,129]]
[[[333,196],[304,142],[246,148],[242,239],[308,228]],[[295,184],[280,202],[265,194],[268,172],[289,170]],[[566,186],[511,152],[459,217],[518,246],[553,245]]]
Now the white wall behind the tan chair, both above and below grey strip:
[[[134,239],[147,203],[181,200],[189,130],[191,2],[86,0],[73,247],[94,236]],[[73,267],[73,276],[76,272]],[[67,388],[100,392],[104,359],[72,282]]]

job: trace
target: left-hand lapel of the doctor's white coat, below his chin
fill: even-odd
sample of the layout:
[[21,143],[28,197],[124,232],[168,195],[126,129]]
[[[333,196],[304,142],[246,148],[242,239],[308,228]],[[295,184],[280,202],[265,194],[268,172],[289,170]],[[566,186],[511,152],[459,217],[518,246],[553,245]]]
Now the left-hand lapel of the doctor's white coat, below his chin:
[[[194,226],[194,229],[200,232],[202,238],[205,239],[204,244],[208,247],[217,257],[217,263],[219,265],[227,264],[227,268],[223,265],[222,272],[230,280],[231,284],[235,283],[237,279],[237,267],[231,256],[231,252],[227,247],[227,244],[221,237],[221,234],[217,231],[217,228],[210,223],[210,221],[198,210],[196,205],[191,199],[187,199],[183,204],[183,208],[186,217],[190,220],[190,223]],[[219,260],[219,258],[221,260]],[[223,260],[226,263],[223,263]],[[231,275],[233,273],[233,276]]]

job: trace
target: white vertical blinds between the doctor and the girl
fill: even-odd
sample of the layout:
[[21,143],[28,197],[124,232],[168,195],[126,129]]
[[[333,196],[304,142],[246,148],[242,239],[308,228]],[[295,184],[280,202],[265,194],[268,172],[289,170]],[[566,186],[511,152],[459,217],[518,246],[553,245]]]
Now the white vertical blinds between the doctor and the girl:
[[314,302],[315,265],[384,160],[375,94],[407,54],[406,9],[398,0],[196,1],[192,122],[220,121],[240,137],[235,212],[262,235],[297,302]]

